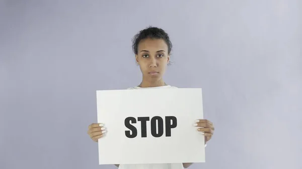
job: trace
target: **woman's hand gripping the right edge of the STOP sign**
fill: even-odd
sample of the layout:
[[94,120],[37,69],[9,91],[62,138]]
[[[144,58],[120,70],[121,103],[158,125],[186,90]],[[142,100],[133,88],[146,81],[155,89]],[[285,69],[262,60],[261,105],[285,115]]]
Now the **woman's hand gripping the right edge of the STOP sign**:
[[212,138],[215,129],[212,122],[206,119],[198,119],[194,126],[198,127],[197,131],[203,132],[205,143]]

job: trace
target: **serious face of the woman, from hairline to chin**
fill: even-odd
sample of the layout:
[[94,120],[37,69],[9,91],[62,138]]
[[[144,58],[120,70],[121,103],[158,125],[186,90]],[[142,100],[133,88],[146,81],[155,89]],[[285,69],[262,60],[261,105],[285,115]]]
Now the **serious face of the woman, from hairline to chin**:
[[135,58],[144,78],[160,80],[170,60],[168,46],[162,39],[144,39],[138,44]]

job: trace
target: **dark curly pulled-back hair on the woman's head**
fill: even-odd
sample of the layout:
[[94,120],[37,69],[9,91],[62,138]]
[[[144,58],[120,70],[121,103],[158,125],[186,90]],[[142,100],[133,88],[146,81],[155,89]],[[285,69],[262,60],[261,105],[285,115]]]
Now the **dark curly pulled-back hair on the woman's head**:
[[168,46],[168,54],[171,54],[171,50],[172,50],[172,43],[170,41],[169,35],[160,28],[157,27],[148,27],[144,30],[139,31],[138,34],[136,34],[132,40],[132,49],[135,55],[137,55],[138,51],[138,44],[141,40],[143,39],[147,39],[147,38],[151,38],[151,39],[163,39],[167,46]]

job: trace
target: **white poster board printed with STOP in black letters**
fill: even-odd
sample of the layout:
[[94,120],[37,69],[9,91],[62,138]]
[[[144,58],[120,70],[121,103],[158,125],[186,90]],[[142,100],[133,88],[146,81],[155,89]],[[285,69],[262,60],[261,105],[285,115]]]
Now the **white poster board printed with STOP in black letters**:
[[205,162],[204,136],[193,126],[203,119],[200,88],[97,91],[97,111],[108,131],[98,142],[99,164]]

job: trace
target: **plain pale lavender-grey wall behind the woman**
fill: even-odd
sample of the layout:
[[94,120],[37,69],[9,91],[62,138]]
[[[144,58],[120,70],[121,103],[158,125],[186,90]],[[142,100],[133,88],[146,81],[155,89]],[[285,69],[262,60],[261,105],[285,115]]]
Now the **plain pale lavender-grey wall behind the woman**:
[[302,168],[301,5],[0,1],[0,168],[116,168],[86,132],[96,90],[140,83],[131,38],[149,25],[174,44],[166,82],[203,88],[215,125],[190,168]]

